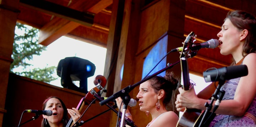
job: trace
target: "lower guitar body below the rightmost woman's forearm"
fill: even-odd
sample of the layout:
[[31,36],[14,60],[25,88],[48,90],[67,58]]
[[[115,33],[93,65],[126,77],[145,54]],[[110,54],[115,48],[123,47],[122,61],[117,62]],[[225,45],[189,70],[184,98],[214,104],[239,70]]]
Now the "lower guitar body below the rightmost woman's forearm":
[[[202,122],[202,127],[208,127],[210,122],[216,116],[215,113],[211,114],[212,112],[208,112],[205,116],[205,119]],[[176,127],[198,127],[202,118],[205,114],[205,111],[201,111],[198,109],[186,109],[179,119]]]

